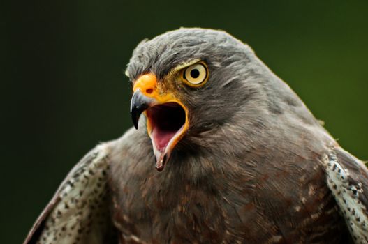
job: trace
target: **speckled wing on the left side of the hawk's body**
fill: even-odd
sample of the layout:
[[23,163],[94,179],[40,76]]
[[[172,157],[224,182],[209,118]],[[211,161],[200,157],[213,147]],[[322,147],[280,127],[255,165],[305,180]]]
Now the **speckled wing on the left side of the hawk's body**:
[[24,244],[115,241],[108,207],[108,167],[107,144],[87,153],[61,183]]

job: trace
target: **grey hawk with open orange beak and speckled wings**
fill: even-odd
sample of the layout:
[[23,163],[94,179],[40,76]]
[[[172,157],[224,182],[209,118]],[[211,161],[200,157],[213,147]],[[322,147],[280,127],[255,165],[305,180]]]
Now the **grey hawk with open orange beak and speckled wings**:
[[126,75],[137,129],[75,165],[24,243],[368,243],[367,168],[251,47],[169,31]]

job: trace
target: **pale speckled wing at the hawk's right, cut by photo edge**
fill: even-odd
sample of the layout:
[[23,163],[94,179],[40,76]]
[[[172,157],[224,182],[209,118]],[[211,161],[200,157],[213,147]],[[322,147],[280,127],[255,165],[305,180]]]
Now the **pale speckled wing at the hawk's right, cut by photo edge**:
[[325,160],[327,185],[337,201],[355,243],[368,243],[368,170],[342,148],[334,148]]

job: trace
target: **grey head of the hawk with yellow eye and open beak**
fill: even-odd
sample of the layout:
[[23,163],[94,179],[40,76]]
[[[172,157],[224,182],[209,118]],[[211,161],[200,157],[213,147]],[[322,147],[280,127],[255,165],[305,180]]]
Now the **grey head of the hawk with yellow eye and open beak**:
[[289,101],[301,103],[248,45],[211,29],[178,29],[143,40],[126,75],[133,85],[133,123],[138,128],[140,115],[147,118],[159,171],[180,146],[219,145],[225,139],[220,135],[251,144],[267,114],[281,111],[284,98],[277,93],[286,91]]

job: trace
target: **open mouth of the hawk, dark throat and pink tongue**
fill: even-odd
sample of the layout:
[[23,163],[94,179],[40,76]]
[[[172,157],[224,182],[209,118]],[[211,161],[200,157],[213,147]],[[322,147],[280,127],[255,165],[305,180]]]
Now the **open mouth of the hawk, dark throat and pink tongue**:
[[149,134],[157,151],[164,153],[166,148],[176,144],[182,137],[186,113],[177,102],[167,102],[149,107],[146,111]]

